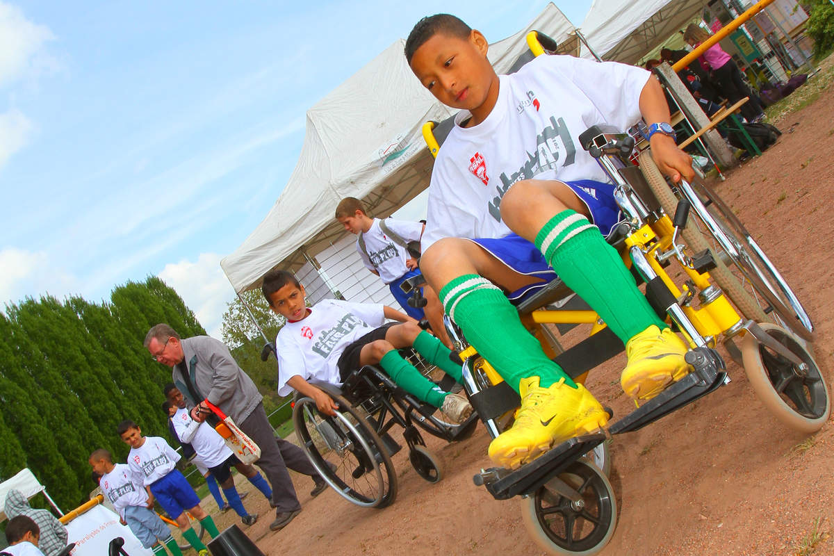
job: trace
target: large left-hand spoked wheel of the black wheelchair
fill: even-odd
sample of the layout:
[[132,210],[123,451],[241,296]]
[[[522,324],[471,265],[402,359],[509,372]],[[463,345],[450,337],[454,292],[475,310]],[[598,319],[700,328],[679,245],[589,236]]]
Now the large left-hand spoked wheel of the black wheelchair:
[[293,423],[301,448],[316,470],[337,493],[366,508],[394,502],[397,476],[379,435],[341,396],[334,417],[319,413],[312,398],[299,398]]

